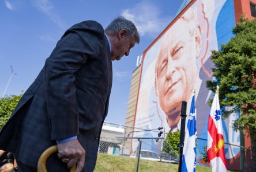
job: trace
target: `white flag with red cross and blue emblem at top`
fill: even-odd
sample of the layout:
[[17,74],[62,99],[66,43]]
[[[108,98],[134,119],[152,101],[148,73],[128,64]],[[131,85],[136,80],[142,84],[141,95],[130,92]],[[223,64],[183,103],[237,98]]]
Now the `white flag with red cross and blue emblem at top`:
[[215,93],[208,120],[207,157],[212,171],[227,171],[219,95]]

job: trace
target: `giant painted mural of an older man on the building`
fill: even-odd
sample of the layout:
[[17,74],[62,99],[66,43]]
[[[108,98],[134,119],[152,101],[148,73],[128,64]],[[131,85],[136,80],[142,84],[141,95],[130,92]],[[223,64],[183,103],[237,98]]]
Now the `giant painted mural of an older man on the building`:
[[[233,36],[235,27],[233,0],[191,1],[178,17],[144,52],[140,88],[134,126],[165,132],[180,130],[181,102],[187,101],[190,111],[196,89],[198,151],[207,143],[207,123],[210,107],[207,101],[213,93],[205,81],[213,80],[212,50],[220,49]],[[239,134],[232,130],[234,114],[224,121],[225,143],[239,145]],[[157,132],[134,132],[133,136],[157,136]],[[158,152],[161,142],[144,141],[142,149]],[[137,142],[132,148],[136,150]],[[239,158],[239,147],[225,145],[227,159]],[[197,155],[197,158],[200,155]],[[234,161],[227,161],[232,163]],[[239,165],[239,164],[238,164]]]

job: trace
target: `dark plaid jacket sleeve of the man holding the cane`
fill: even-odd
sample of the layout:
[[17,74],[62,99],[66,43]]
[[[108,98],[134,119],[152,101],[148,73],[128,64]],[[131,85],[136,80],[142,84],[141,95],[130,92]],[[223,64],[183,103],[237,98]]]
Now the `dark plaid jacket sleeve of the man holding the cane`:
[[52,140],[78,135],[76,72],[99,56],[103,35],[97,22],[74,25],[46,60],[44,89]]

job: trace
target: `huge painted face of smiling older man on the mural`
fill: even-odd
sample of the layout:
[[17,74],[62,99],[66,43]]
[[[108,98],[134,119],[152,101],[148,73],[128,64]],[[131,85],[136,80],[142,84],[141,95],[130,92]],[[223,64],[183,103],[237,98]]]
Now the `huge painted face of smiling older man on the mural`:
[[182,101],[193,92],[201,49],[201,31],[195,22],[180,18],[161,42],[156,62],[155,88],[171,128],[178,124]]

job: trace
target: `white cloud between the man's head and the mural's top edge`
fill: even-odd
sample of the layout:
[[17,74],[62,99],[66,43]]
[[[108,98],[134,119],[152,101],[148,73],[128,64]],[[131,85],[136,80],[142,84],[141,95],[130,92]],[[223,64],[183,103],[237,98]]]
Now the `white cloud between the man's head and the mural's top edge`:
[[133,21],[141,36],[156,37],[170,24],[173,17],[162,17],[161,10],[148,1],[137,3],[132,9],[122,11],[123,17]]

